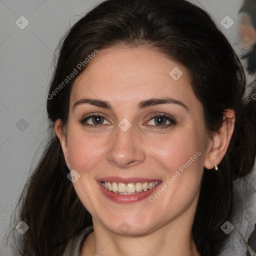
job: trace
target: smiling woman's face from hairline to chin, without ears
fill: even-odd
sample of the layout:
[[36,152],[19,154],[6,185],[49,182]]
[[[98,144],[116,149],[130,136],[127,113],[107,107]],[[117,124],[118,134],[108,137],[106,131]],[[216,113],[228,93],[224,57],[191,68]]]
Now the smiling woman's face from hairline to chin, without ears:
[[209,138],[187,71],[145,46],[90,61],[73,84],[61,145],[93,221],[132,235],[192,222]]

